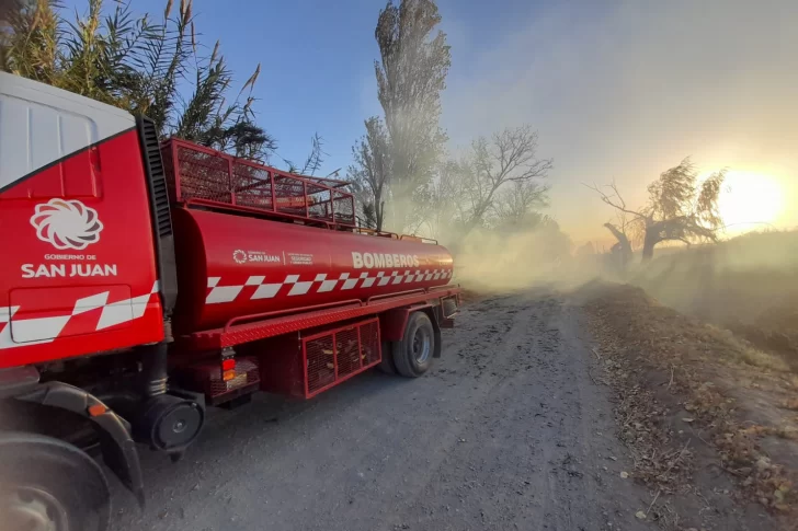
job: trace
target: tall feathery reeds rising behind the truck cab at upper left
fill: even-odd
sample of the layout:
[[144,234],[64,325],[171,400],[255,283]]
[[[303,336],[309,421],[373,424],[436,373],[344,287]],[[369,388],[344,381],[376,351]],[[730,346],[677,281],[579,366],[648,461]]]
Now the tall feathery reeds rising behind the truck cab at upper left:
[[280,157],[258,123],[253,61],[236,83],[221,43],[201,41],[192,0],[167,0],[139,14],[133,2],[86,0],[73,12],[57,0],[9,0],[0,11],[0,70],[34,79],[151,118],[176,136],[237,157],[282,161],[314,174],[322,159],[316,135],[304,165]]

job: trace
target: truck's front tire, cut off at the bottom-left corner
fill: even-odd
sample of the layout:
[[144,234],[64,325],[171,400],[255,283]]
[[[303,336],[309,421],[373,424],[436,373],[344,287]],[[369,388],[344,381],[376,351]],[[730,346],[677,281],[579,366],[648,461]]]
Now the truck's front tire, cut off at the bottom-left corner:
[[110,518],[105,474],[83,451],[41,435],[0,435],[3,530],[106,531]]

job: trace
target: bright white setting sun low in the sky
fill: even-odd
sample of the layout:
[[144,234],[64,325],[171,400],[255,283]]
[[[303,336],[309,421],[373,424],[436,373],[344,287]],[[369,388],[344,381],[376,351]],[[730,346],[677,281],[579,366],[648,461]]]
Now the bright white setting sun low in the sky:
[[726,175],[718,208],[730,232],[764,228],[782,213],[784,191],[773,176],[732,170]]

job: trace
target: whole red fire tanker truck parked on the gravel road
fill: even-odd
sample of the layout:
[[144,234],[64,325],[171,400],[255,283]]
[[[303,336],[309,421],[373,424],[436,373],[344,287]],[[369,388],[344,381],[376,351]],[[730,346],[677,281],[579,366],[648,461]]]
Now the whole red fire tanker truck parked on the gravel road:
[[0,72],[0,518],[107,528],[107,469],[180,459],[206,407],[419,377],[459,290],[435,242],[357,228],[345,184],[159,141]]

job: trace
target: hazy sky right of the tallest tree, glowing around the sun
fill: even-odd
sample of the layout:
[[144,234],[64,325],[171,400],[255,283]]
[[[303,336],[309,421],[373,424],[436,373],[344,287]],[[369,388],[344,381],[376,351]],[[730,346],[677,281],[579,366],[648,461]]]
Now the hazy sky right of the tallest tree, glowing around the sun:
[[[446,15],[457,65],[476,27],[456,9]],[[686,155],[704,171],[773,176],[762,186],[772,189],[776,181],[786,195],[776,224],[795,227],[796,27],[795,0],[533,10],[477,50],[467,69],[453,68],[445,125],[453,139],[466,141],[508,123],[533,124],[542,154],[555,158],[551,212],[577,240],[601,235],[596,228],[612,217],[581,182],[615,178],[627,203],[640,203],[645,185]],[[738,175],[727,192],[738,195],[738,209],[748,200],[739,197],[743,189],[752,200],[767,197],[746,177]]]

